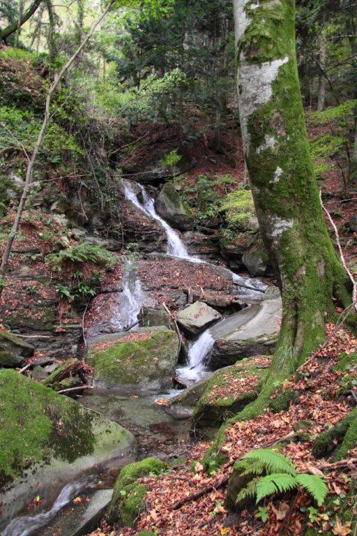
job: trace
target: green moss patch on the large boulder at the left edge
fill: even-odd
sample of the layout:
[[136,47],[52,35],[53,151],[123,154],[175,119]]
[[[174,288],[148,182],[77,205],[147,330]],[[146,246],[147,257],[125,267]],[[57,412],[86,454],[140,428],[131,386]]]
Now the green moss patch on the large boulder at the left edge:
[[11,370],[0,372],[0,394],[0,484],[51,456],[93,452],[91,414],[75,401]]

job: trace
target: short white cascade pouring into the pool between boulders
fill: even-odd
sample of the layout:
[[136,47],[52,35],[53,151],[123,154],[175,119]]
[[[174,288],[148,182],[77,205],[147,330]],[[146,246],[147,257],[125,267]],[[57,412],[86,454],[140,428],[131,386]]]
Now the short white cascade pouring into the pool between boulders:
[[204,360],[210,354],[215,340],[209,329],[206,329],[195,343],[190,345],[188,350],[188,364],[177,369],[179,377],[185,380],[198,380],[202,378],[208,370],[204,364]]

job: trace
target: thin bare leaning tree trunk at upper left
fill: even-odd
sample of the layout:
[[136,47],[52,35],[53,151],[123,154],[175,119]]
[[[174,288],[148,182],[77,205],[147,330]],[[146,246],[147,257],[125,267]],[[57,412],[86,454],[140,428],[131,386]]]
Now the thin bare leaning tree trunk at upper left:
[[[37,140],[36,140],[35,147],[33,148],[31,158],[29,159],[29,163],[28,163],[27,168],[26,168],[26,177],[25,177],[25,181],[24,181],[24,189],[22,191],[19,206],[17,207],[15,221],[14,221],[14,223],[13,223],[13,225],[11,227],[11,230],[10,230],[10,232],[8,234],[8,239],[6,241],[5,249],[3,251],[3,255],[2,255],[2,258],[1,258],[0,283],[3,281],[3,279],[4,279],[5,275],[6,275],[6,271],[8,270],[8,259],[10,257],[11,248],[13,247],[13,241],[15,239],[17,230],[18,230],[18,228],[20,226],[22,211],[24,210],[27,195],[29,193],[29,188],[31,186],[32,174],[33,174],[33,166],[35,165],[36,158],[37,158],[37,155],[38,155],[38,151],[40,150],[41,144],[43,142],[43,136],[45,135],[47,124],[48,124],[48,121],[50,119],[50,106],[51,106],[51,102],[52,102],[52,96],[53,96],[54,92],[56,91],[57,87],[59,86],[59,82],[61,82],[61,80],[63,78],[63,75],[73,65],[75,59],[82,52],[82,50],[84,49],[86,43],[89,41],[89,39],[93,35],[96,27],[104,19],[105,15],[107,15],[108,11],[110,10],[110,8],[112,7],[112,5],[114,4],[115,1],[116,0],[110,0],[109,3],[107,4],[107,7],[103,11],[103,13],[98,17],[98,19],[95,22],[93,22],[89,33],[86,34],[86,37],[82,40],[81,45],[77,48],[77,50],[75,51],[73,56],[71,56],[70,59],[68,59],[68,61],[66,62],[66,64],[61,68],[61,71],[59,73],[56,73],[56,75],[54,76],[54,81],[52,82],[52,84],[50,86],[50,89],[49,89],[49,91],[47,93],[46,105],[45,105],[45,115],[43,117],[43,124],[42,124],[42,126],[40,128],[40,132],[38,133],[38,137],[37,137]],[[1,297],[2,288],[3,288],[3,285],[0,284],[0,297]]]

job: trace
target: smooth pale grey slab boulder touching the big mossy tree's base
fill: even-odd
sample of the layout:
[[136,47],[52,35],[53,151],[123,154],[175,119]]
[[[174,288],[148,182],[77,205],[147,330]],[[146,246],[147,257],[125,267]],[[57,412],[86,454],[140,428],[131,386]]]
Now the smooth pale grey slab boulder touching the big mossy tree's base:
[[215,339],[211,368],[232,365],[243,357],[270,354],[280,331],[282,300],[276,287],[269,287],[261,303],[224,318],[210,332]]

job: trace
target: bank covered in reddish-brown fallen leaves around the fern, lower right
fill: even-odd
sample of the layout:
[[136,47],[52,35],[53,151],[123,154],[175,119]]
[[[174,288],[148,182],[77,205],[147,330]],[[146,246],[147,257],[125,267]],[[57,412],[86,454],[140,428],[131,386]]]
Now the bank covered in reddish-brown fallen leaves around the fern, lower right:
[[[351,476],[356,474],[357,448],[349,452],[351,466],[340,466],[315,459],[312,441],[327,425],[343,419],[354,406],[354,400],[342,394],[341,386],[346,380],[356,385],[357,365],[347,364],[340,367],[342,370],[335,369],[335,365],[341,352],[345,352],[348,362],[348,356],[356,350],[357,339],[351,333],[328,324],[326,343],[299,369],[299,379],[291,379],[275,392],[278,395],[280,389],[294,389],[295,397],[287,410],[267,411],[250,421],[233,422],[226,429],[225,441],[220,446],[227,462],[211,471],[211,475],[204,472],[199,461],[210,444],[199,442],[192,447],[190,459],[183,466],[160,477],[143,478],[141,482],[149,491],[145,496],[146,511],[137,519],[136,528],[110,528],[104,524],[105,533],[134,536],[140,530],[152,530],[158,536],[271,536],[283,533],[296,536],[311,527],[321,533],[332,530],[333,535],[352,534],[353,523],[344,519],[344,511],[348,508],[357,515],[356,497],[348,496]],[[301,423],[307,432],[303,439],[296,435]],[[229,514],[224,507],[225,487],[221,484],[230,474],[234,461],[250,449],[274,447],[278,442],[282,442],[282,452],[291,458],[300,472],[321,475],[324,471],[329,489],[328,506],[315,507],[309,496],[300,490],[277,500],[266,500],[261,505],[264,520],[267,518],[265,523],[259,517],[259,509]],[[187,500],[178,508],[175,505],[206,487],[209,491],[197,500]],[[103,531],[97,530],[91,536],[101,534]]]

